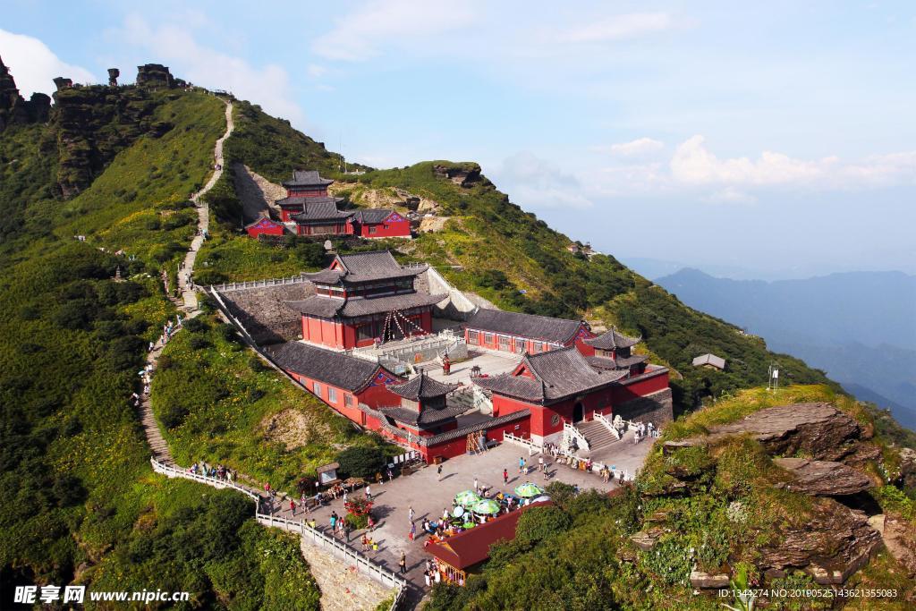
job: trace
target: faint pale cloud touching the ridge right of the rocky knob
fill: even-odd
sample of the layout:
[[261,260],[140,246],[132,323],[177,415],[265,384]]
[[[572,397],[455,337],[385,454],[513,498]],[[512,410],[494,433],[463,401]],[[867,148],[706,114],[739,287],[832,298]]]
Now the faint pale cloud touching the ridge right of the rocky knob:
[[582,185],[571,173],[529,151],[507,157],[493,172],[501,191],[526,209],[590,208]]

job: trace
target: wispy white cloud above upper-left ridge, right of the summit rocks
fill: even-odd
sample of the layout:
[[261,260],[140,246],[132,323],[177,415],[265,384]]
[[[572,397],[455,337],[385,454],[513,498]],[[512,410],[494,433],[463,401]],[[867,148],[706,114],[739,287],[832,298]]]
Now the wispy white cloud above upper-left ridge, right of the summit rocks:
[[[191,20],[194,27],[205,25],[204,16]],[[194,32],[170,23],[151,25],[138,15],[127,16],[124,26],[114,35],[123,43],[143,49],[150,61],[169,64],[172,74],[209,89],[225,89],[239,98],[251,100],[271,115],[289,119],[300,127],[304,115],[294,101],[289,73],[276,64],[252,66],[246,60],[217,49],[204,47]]]

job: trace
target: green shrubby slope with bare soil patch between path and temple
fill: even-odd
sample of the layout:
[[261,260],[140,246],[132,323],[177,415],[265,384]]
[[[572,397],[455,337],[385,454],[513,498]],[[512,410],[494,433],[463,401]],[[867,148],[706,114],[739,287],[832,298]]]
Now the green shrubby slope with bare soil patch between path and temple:
[[364,453],[377,459],[374,468],[384,464],[380,438],[264,366],[231,325],[201,316],[185,327],[166,345],[152,392],[178,464],[226,464],[297,496],[299,480],[322,464],[343,469],[347,456]]

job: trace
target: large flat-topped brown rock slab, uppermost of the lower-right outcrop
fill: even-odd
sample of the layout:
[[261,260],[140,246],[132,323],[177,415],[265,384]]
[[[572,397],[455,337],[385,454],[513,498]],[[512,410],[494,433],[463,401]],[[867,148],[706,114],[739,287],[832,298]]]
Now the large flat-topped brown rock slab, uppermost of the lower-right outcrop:
[[855,453],[862,430],[856,420],[829,403],[795,403],[760,409],[710,429],[709,435],[666,442],[667,450],[714,442],[717,438],[750,433],[772,454],[804,453],[835,461]]

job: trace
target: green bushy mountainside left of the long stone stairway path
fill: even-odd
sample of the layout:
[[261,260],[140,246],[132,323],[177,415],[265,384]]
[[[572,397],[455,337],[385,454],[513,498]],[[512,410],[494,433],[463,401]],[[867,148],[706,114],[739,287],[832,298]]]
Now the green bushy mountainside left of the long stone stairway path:
[[[0,135],[0,208],[17,219],[0,246],[4,605],[12,584],[74,582],[189,590],[203,606],[318,606],[294,537],[257,528],[242,497],[151,475],[129,401],[173,313],[158,274],[173,275],[190,242],[184,202],[209,172],[223,109],[203,93],[161,97],[155,118],[172,129],[121,149],[71,201],[51,198],[53,122]],[[116,267],[128,281],[111,279]]]

